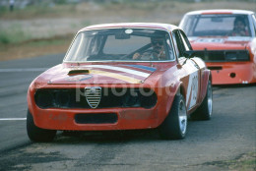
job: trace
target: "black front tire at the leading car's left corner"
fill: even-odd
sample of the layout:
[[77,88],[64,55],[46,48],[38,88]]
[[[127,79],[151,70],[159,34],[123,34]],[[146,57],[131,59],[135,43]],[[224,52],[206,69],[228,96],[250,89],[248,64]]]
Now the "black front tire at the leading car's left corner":
[[32,142],[52,142],[56,132],[56,130],[45,130],[36,127],[33,123],[32,114],[28,110],[27,133]]

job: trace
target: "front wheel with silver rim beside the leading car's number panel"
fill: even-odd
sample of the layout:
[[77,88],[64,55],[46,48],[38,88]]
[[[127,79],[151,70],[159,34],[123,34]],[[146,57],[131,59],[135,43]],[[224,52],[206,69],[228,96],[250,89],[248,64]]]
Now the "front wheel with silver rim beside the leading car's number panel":
[[164,140],[181,140],[185,138],[187,110],[186,102],[181,94],[175,95],[169,114],[160,125],[159,131],[160,137]]

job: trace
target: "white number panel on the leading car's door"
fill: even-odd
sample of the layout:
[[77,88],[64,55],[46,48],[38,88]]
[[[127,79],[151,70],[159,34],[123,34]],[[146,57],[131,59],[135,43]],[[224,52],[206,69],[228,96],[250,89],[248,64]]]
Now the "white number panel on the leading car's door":
[[197,102],[198,94],[198,72],[195,72],[189,76],[189,82],[187,87],[186,106],[188,109],[193,107]]

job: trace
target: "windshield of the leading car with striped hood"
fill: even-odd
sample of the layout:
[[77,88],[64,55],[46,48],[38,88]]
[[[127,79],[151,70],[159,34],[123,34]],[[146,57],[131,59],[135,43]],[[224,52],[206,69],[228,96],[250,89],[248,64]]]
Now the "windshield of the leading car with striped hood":
[[77,34],[65,62],[166,61],[174,59],[167,31],[147,28],[109,28]]

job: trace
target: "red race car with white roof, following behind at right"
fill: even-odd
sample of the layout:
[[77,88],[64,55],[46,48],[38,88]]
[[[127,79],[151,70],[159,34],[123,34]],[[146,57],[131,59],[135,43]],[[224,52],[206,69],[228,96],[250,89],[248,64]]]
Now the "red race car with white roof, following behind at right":
[[180,28],[195,55],[212,70],[213,85],[256,83],[256,17],[251,11],[204,10],[185,14]]

